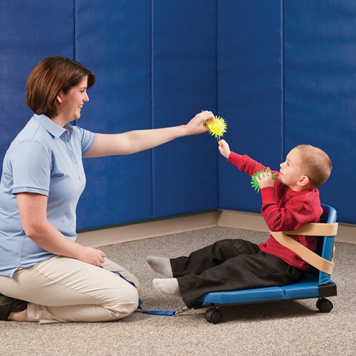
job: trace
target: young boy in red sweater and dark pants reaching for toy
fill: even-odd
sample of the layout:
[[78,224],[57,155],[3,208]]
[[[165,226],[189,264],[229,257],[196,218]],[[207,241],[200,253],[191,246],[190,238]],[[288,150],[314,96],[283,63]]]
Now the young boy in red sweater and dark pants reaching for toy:
[[[224,140],[219,142],[219,150],[228,162],[250,176],[267,169],[247,155],[231,152]],[[258,179],[261,213],[268,229],[293,231],[304,224],[319,222],[323,209],[317,187],[330,176],[332,164],[328,155],[317,147],[299,145],[288,153],[280,166],[280,172],[266,172]],[[275,181],[273,173],[276,173]],[[292,238],[315,251],[315,237]],[[148,256],[147,262],[168,277],[154,279],[155,288],[165,295],[182,297],[189,308],[204,293],[295,283],[309,267],[271,235],[259,245],[242,239],[226,239],[194,251],[188,257]]]

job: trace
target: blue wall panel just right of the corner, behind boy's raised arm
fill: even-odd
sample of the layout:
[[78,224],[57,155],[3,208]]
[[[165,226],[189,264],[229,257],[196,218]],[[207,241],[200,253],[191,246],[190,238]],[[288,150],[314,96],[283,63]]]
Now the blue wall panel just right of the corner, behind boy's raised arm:
[[[218,1],[218,112],[231,150],[279,169],[283,159],[281,2]],[[259,211],[250,177],[219,155],[219,208]]]

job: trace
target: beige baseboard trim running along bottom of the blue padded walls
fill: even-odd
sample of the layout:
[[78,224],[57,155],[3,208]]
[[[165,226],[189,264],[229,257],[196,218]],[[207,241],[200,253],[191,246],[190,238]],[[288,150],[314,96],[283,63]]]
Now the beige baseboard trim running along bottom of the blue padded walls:
[[[105,246],[120,242],[148,239],[150,237],[179,234],[184,231],[206,229],[214,226],[266,231],[263,216],[235,210],[219,210],[189,216],[147,221],[78,233],[78,243],[83,246]],[[356,244],[356,225],[339,224],[337,242]]]

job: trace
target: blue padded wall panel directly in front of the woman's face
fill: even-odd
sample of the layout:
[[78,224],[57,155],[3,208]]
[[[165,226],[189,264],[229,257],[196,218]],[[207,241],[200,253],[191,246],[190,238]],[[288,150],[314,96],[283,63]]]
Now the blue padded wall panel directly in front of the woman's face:
[[[75,59],[97,82],[76,122],[103,133],[151,127],[151,1],[78,1]],[[152,219],[152,152],[84,159],[78,229]]]

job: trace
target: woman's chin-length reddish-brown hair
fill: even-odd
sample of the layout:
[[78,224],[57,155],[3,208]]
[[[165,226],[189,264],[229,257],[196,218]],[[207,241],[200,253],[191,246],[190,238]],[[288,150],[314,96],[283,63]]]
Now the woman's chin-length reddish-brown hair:
[[44,59],[33,68],[26,84],[26,105],[35,114],[50,118],[58,115],[57,96],[78,85],[88,76],[88,88],[95,84],[95,75],[77,61],[62,56]]

